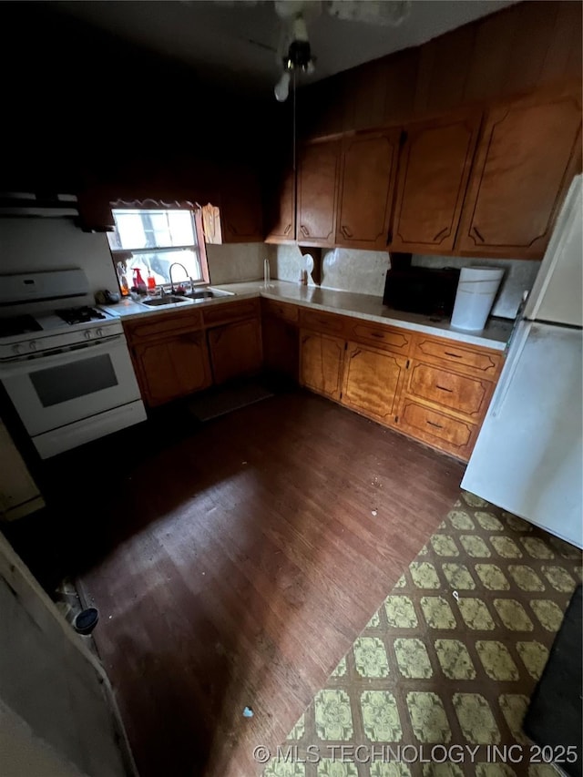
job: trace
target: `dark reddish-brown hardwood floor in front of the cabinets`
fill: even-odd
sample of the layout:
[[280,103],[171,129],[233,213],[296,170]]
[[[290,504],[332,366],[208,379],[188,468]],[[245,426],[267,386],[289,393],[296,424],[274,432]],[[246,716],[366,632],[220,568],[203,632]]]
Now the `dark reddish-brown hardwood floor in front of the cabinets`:
[[302,393],[100,461],[79,580],[141,777],[261,772],[462,475]]

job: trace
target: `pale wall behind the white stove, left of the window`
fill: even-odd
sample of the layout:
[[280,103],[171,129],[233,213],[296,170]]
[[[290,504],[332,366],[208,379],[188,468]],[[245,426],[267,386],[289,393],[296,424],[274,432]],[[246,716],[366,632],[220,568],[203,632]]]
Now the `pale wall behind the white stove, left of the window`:
[[0,274],[80,267],[89,288],[118,290],[105,234],[79,230],[72,219],[0,218]]

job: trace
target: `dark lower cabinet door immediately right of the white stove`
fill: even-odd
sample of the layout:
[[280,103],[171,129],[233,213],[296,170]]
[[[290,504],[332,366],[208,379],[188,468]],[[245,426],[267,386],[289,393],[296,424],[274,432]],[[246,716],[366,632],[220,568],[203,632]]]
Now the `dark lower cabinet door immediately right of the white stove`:
[[150,407],[210,386],[209,353],[203,332],[137,345],[134,358]]

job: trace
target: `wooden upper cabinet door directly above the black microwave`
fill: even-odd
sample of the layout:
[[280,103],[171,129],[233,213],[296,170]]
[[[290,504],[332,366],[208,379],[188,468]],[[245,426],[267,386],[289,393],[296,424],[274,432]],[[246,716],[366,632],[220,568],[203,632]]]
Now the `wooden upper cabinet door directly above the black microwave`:
[[480,116],[455,114],[408,128],[399,166],[393,250],[454,248]]

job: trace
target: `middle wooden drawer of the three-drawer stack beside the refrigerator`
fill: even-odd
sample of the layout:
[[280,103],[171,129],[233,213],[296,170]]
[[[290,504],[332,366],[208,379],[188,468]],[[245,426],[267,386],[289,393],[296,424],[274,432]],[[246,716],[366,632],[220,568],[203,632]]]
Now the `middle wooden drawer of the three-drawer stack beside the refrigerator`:
[[492,394],[492,383],[420,362],[411,365],[407,394],[448,410],[480,418]]

